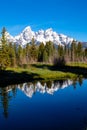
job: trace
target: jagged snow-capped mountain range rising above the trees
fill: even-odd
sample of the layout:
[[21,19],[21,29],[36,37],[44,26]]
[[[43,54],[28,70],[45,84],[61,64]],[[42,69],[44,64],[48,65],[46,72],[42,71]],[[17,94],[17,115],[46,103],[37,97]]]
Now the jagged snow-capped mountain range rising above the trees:
[[35,39],[35,43],[38,44],[43,42],[46,44],[48,41],[52,41],[55,45],[69,45],[73,41],[73,38],[70,38],[63,34],[58,34],[53,31],[52,28],[47,30],[39,30],[34,32],[31,30],[31,27],[26,27],[19,35],[13,37],[8,32],[6,32],[7,40],[17,45],[25,46],[27,43],[30,43],[32,38]]

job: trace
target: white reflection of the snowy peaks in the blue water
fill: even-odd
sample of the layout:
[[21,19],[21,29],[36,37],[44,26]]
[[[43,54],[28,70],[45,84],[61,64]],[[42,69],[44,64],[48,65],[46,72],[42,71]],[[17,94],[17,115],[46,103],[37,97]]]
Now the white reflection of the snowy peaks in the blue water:
[[73,81],[66,80],[66,81],[47,81],[47,82],[36,82],[36,83],[24,83],[22,86],[18,85],[18,88],[21,89],[26,96],[32,97],[34,93],[48,93],[53,95],[55,91],[59,89],[64,89],[71,85]]

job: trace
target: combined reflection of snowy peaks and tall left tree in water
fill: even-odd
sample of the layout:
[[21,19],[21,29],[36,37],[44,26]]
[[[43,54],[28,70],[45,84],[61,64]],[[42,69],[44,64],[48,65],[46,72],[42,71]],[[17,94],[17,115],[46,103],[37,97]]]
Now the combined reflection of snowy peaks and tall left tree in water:
[[[79,85],[82,85],[82,78],[78,79]],[[70,85],[73,85],[74,88],[76,88],[77,79],[73,80],[60,80],[60,81],[37,81],[37,82],[29,82],[29,83],[23,83],[19,85],[11,85],[7,86],[5,88],[0,88],[0,103],[3,107],[3,114],[5,118],[8,118],[9,113],[9,104],[12,98],[14,98],[17,94],[18,90],[21,90],[24,92],[26,96],[31,98],[36,92],[40,92],[42,94],[51,94],[53,95],[54,92],[64,89],[66,87],[70,87]]]

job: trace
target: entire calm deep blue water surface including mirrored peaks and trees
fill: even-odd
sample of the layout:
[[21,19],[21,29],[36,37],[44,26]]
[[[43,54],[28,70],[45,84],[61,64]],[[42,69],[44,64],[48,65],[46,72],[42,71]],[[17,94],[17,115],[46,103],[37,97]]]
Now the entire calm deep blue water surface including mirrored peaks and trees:
[[87,80],[0,88],[0,130],[87,130]]

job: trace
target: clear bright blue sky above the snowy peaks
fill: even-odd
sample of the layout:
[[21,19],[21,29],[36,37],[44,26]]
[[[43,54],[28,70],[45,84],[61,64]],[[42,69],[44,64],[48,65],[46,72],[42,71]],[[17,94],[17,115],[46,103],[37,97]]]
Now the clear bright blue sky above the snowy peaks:
[[3,26],[12,35],[31,26],[87,41],[87,0],[0,0],[0,30]]

